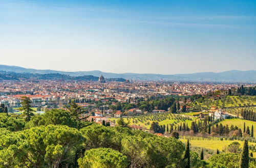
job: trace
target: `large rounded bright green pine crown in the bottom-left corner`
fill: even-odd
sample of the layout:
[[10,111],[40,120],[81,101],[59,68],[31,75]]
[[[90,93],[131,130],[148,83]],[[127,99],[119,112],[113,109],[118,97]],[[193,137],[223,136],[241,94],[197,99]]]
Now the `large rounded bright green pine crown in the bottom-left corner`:
[[[63,125],[39,126],[15,133],[0,141],[0,163],[17,167],[59,167],[73,162],[84,138],[75,128]],[[8,144],[6,143],[8,142]]]

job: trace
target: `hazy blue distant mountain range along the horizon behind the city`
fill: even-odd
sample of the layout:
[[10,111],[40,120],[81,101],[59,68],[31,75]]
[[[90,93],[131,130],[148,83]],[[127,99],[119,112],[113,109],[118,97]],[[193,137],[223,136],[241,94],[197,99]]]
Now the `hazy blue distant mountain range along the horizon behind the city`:
[[175,75],[162,75],[162,74],[139,74],[139,73],[107,73],[101,71],[77,71],[65,72],[55,70],[37,70],[28,69],[17,66],[0,65],[0,71],[16,72],[16,73],[34,73],[34,74],[65,74],[70,76],[100,76],[105,78],[124,78],[135,80],[168,80],[168,81],[209,81],[209,82],[256,82],[256,70],[239,71],[231,70],[219,73],[214,72],[201,72],[191,74],[175,74]]

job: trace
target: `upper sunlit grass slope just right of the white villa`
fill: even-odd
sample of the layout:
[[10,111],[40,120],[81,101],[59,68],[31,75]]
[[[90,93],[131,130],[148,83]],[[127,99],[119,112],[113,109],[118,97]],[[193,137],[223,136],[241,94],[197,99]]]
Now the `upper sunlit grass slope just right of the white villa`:
[[241,128],[242,131],[244,129],[244,122],[245,122],[245,127],[249,127],[251,130],[251,126],[253,125],[253,134],[256,135],[256,122],[255,121],[249,121],[249,120],[243,120],[243,119],[225,119],[221,121],[222,125],[228,125],[229,128],[231,125],[238,126],[238,128]]

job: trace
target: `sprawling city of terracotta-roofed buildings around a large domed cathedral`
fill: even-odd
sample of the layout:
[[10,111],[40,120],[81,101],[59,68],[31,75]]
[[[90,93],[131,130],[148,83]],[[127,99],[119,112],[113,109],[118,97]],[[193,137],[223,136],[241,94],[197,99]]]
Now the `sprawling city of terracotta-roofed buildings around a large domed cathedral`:
[[[22,96],[30,97],[32,105],[40,108],[62,108],[71,99],[83,107],[95,108],[95,117],[122,117],[147,113],[163,113],[164,110],[142,111],[132,108],[127,111],[112,111],[109,106],[117,102],[136,103],[136,99],[166,95],[205,95],[220,90],[227,93],[229,88],[237,88],[237,84],[209,83],[178,83],[156,81],[106,82],[101,75],[98,81],[67,81],[67,80],[2,80],[0,81],[0,104],[8,107],[19,107]],[[103,109],[97,109],[95,102],[105,103]],[[189,108],[189,107],[187,107]],[[218,111],[212,111],[217,113]],[[113,114],[114,113],[114,114]],[[220,111],[218,112],[220,113]],[[222,115],[223,113],[221,113]],[[114,115],[114,116],[113,116]],[[219,116],[218,114],[215,115]],[[224,116],[225,117],[225,116]]]

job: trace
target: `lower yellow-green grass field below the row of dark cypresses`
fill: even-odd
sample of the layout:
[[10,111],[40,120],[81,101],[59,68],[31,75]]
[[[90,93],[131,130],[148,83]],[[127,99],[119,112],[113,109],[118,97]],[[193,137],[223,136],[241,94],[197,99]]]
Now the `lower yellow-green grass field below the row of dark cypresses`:
[[[187,139],[180,139],[183,143],[187,142]],[[219,149],[222,151],[223,147],[228,146],[229,144],[233,142],[238,142],[241,144],[241,148],[243,147],[244,142],[242,141],[207,141],[207,140],[189,140],[191,146],[196,146],[196,147],[203,147],[207,149],[212,149],[216,150]],[[256,143],[250,143],[248,142],[248,145],[256,145]],[[253,157],[256,158],[256,152],[253,152]]]

